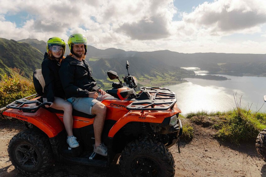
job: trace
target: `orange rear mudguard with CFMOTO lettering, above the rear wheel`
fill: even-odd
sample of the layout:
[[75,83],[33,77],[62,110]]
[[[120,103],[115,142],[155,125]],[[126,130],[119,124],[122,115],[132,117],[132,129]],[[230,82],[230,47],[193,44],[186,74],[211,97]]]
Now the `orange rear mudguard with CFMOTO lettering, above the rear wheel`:
[[19,109],[8,109],[3,112],[3,115],[14,117],[35,125],[41,131],[46,133],[49,138],[55,137],[64,129],[64,124],[60,121],[57,115],[42,107],[35,113],[27,113],[20,111]]

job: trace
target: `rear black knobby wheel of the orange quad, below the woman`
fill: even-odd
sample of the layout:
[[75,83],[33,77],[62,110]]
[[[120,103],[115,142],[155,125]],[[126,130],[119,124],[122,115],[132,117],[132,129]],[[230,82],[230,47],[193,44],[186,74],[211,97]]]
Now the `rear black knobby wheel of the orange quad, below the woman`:
[[39,176],[54,164],[48,136],[38,129],[16,134],[8,145],[9,159],[20,173]]

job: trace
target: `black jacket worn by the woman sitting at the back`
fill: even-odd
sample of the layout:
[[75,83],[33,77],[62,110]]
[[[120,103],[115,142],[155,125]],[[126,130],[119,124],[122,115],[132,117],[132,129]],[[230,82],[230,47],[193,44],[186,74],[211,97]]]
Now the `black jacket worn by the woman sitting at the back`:
[[45,53],[44,59],[41,63],[41,74],[45,81],[43,97],[47,98],[48,102],[54,102],[55,96],[65,98],[65,93],[58,73],[59,69],[60,63],[56,60],[48,59],[48,55]]

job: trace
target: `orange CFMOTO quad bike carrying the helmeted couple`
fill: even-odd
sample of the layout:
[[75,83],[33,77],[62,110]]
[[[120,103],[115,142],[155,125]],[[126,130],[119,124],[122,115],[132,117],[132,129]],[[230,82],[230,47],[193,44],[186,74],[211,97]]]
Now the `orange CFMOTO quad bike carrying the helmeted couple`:
[[[129,63],[127,61],[126,69]],[[122,176],[174,176],[174,159],[168,148],[182,135],[181,112],[176,94],[168,88],[140,87],[129,75],[119,80],[116,72],[108,71],[112,84],[111,96],[102,101],[107,107],[102,141],[108,156],[93,152],[95,143],[92,115],[73,110],[73,134],[80,146],[66,143],[63,112],[44,107],[41,102],[44,80],[41,70],[33,75],[37,94],[19,99],[3,112],[6,118],[16,118],[28,128],[16,134],[8,145],[12,164],[22,174],[40,175],[55,161],[108,167],[117,163]],[[28,100],[30,97],[34,97]],[[179,148],[179,143],[178,143]]]

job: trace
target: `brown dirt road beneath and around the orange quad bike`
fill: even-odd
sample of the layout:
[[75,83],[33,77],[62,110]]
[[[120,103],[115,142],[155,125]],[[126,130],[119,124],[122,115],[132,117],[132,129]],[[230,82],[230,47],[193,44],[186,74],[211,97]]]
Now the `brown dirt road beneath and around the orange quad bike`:
[[[212,138],[214,131],[193,125],[194,138],[191,142],[181,143],[181,154],[177,146],[170,148],[175,164],[175,176],[265,176],[266,163],[257,154],[255,143],[242,143],[240,147],[230,143],[218,142]],[[17,176],[22,174],[14,169],[8,158],[7,147],[10,139],[25,129],[19,121],[0,120],[0,176]],[[95,168],[84,165],[55,164],[46,176],[120,176],[118,166],[108,169]]]

